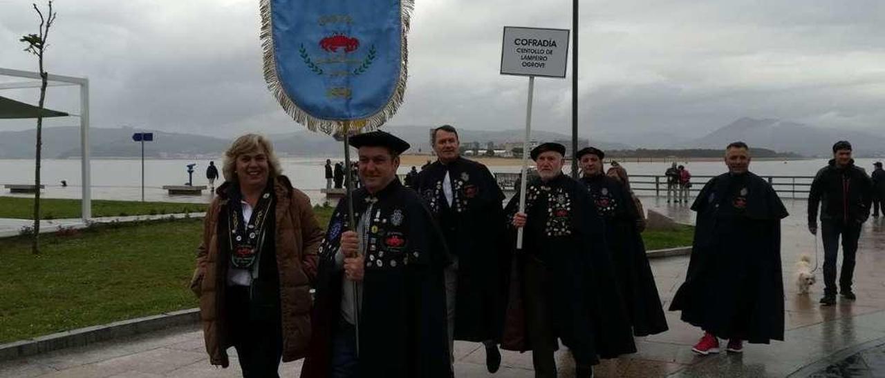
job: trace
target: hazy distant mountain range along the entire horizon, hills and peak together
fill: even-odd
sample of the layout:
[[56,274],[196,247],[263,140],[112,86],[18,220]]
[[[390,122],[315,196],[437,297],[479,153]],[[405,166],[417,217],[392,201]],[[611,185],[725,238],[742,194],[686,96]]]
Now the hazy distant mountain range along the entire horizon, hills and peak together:
[[[410,152],[427,153],[430,147],[430,127],[385,127],[412,144]],[[92,128],[89,130],[91,155],[97,158],[138,157],[141,149],[132,140],[134,132],[149,130],[119,128]],[[479,142],[484,149],[490,141],[496,145],[516,144],[522,141],[522,130],[483,131],[458,130],[461,144],[469,146]],[[341,155],[340,142],[331,137],[306,130],[270,134],[273,147],[280,155],[337,156]],[[570,136],[558,132],[533,131],[532,140],[560,141],[568,144]],[[682,142],[671,148],[724,148],[735,140],[743,140],[750,147],[768,148],[781,153],[804,156],[828,156],[836,140],[850,140],[858,156],[885,156],[885,137],[840,129],[825,129],[778,119],[754,119],[743,117],[731,124],[696,140]],[[144,155],[151,158],[218,157],[230,145],[231,140],[181,132],[154,131],[154,141],[144,145]],[[586,145],[579,140],[579,145]],[[27,159],[34,157],[35,131],[0,132],[0,159]],[[630,150],[642,145],[627,145],[593,140],[591,145],[603,150]],[[660,148],[660,146],[655,146]],[[80,128],[77,126],[49,127],[43,129],[43,156],[65,159],[80,155]]]

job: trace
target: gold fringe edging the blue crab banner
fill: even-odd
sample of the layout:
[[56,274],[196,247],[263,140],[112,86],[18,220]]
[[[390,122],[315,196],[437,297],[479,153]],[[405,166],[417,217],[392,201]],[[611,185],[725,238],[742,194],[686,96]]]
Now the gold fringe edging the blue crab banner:
[[[409,26],[414,8],[414,0],[400,0],[400,20],[403,25],[402,34],[400,35],[400,51],[402,58],[400,59],[399,78],[396,80],[396,87],[394,87],[393,93],[390,94],[387,104],[375,114],[360,120],[350,120],[353,121],[350,122],[351,128],[358,128],[364,131],[376,130],[381,127],[381,125],[384,125],[390,117],[393,117],[393,115],[396,114],[396,110],[399,109],[399,105],[403,103],[405,81],[409,77],[409,49],[408,42],[406,41],[406,34],[409,33]],[[280,77],[277,74],[276,57],[273,56],[271,0],[261,0],[260,11],[261,34],[259,34],[259,38],[261,39],[261,49],[264,51],[265,57],[265,81],[267,82],[267,88],[271,90],[273,96],[276,97],[278,102],[280,102],[282,109],[286,110],[286,113],[288,113],[292,119],[295,119],[297,123],[307,126],[308,130],[312,132],[325,132],[330,135],[335,132],[342,132],[342,130],[340,130],[342,121],[347,120],[313,117],[303,109],[299,108],[295,102],[292,102],[292,99],[289,98],[289,95],[283,90]]]

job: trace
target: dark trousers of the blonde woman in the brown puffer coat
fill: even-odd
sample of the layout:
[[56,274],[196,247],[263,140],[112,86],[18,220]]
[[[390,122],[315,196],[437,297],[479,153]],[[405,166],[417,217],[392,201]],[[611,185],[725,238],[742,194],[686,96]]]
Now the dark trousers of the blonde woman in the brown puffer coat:
[[[244,378],[279,377],[282,357],[280,307],[262,303],[250,288],[227,288],[227,324]],[[279,301],[279,299],[278,299]]]

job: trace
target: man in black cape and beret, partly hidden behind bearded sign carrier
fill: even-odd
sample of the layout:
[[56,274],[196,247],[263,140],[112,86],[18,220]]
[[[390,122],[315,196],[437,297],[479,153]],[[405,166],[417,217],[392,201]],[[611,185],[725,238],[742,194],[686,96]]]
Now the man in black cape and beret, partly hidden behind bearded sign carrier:
[[596,210],[605,223],[605,240],[612,253],[617,283],[624,296],[635,336],[649,336],[667,330],[664,308],[658,296],[655,276],[645,255],[643,237],[636,228],[642,219],[633,197],[615,178],[605,175],[605,153],[586,147],[576,155],[581,162],[581,183],[587,186]]

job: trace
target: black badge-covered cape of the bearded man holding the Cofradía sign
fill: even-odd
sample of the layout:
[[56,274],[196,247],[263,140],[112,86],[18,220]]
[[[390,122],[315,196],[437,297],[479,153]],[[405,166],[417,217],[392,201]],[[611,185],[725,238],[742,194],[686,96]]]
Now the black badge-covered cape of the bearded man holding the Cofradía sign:
[[[519,194],[504,208],[508,223],[517,211]],[[512,279],[521,279],[519,265],[527,256],[543,261],[553,277],[547,298],[555,336],[573,350],[604,359],[636,352],[606,249],[603,220],[584,185],[562,174],[546,183],[534,178],[527,185],[526,214],[523,250],[517,251],[513,242],[517,258]],[[515,229],[509,230],[508,240],[515,241]],[[509,298],[519,296],[511,292]],[[508,306],[505,339],[518,311]],[[506,341],[504,348],[513,349]],[[523,343],[519,349],[531,349],[527,340]]]

